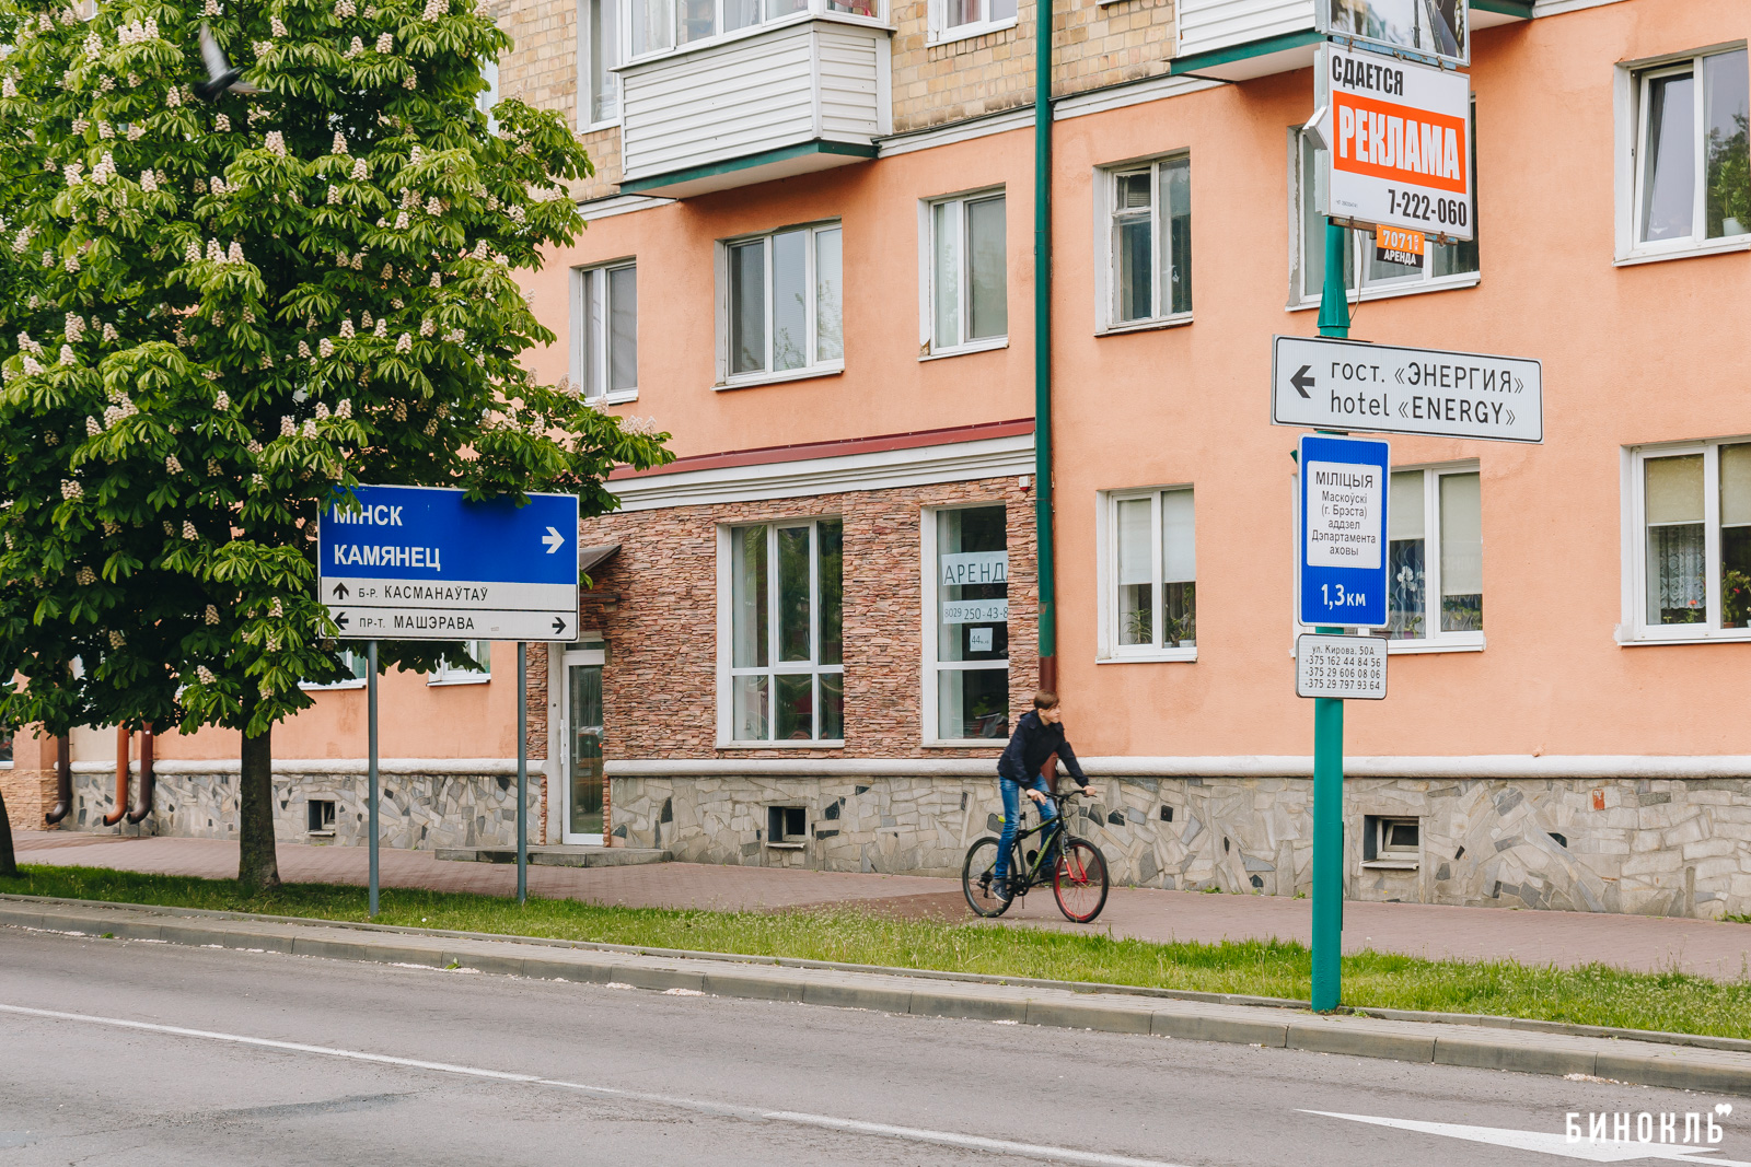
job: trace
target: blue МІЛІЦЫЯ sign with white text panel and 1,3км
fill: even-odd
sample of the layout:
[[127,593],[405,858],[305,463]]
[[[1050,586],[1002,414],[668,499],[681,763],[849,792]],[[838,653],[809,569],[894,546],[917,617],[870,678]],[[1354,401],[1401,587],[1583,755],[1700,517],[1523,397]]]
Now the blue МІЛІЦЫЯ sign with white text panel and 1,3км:
[[1296,576],[1303,625],[1387,623],[1387,443],[1301,436],[1301,546]]

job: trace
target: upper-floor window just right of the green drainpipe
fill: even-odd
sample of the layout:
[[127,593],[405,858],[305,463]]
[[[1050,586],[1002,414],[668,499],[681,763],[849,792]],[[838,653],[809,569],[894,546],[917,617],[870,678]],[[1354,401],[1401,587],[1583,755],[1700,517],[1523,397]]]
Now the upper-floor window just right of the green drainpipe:
[[1110,304],[1107,327],[1192,310],[1192,159],[1107,173]]

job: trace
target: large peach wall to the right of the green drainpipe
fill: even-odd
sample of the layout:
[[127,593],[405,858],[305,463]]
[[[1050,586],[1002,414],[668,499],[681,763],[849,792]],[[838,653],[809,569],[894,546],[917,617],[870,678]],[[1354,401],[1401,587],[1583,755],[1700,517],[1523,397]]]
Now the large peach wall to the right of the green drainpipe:
[[[1480,31],[1481,283],[1369,301],[1352,336],[1539,357],[1546,443],[1394,437],[1478,458],[1483,653],[1394,656],[1350,702],[1355,754],[1740,754],[1751,644],[1618,647],[1620,450],[1751,430],[1751,255],[1613,266],[1613,63],[1744,38],[1751,3],[1637,0]],[[1269,338],[1313,334],[1289,289],[1285,129],[1308,72],[1059,122],[1059,670],[1091,754],[1306,754],[1290,658],[1290,460],[1266,423]],[[1094,338],[1091,173],[1192,156],[1196,324]],[[1094,497],[1194,483],[1199,660],[1096,665]],[[1094,716],[1093,710],[1100,710]]]

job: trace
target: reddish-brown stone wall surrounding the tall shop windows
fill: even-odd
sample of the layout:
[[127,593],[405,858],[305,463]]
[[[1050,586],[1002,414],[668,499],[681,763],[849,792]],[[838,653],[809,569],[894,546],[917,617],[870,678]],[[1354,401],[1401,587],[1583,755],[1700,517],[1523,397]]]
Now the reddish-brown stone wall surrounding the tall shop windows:
[[[602,672],[613,758],[991,758],[993,745],[923,749],[919,521],[926,506],[995,504],[1009,511],[1009,700],[1028,709],[1038,681],[1033,493],[1016,478],[904,486],[812,499],[609,513],[585,520],[581,546],[620,553],[583,593],[585,632],[608,642]],[[716,747],[718,525],[842,516],[844,749]],[[536,723],[539,719],[539,730]],[[529,710],[531,740],[546,705]]]

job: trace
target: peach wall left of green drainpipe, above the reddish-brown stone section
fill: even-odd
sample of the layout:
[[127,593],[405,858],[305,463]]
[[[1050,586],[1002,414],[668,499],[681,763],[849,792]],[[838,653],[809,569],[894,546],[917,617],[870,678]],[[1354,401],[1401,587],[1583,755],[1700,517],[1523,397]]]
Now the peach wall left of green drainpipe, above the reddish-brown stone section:
[[[527,280],[560,341],[536,353],[567,371],[567,271],[637,255],[639,399],[679,455],[898,434],[1033,415],[1033,203],[1028,131],[599,219]],[[1003,185],[1009,348],[918,360],[918,203]],[[846,371],[714,390],[716,240],[818,219],[844,222]]]

